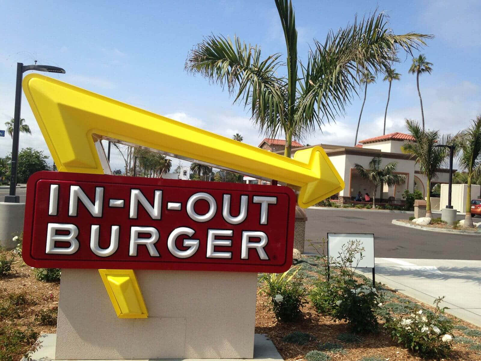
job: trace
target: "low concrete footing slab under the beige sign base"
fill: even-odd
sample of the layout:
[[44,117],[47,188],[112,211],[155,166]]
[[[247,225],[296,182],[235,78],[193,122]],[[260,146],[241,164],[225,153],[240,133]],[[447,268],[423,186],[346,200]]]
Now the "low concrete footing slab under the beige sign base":
[[[42,341],[42,348],[37,350],[32,354],[32,361],[61,361],[56,360],[54,358],[55,355],[55,341],[57,335],[55,334],[42,334],[40,335],[40,340]],[[137,360],[137,361],[155,361],[158,359],[150,359],[150,360]],[[164,359],[165,360],[165,359]],[[217,359],[185,359],[185,361],[214,361]],[[234,361],[236,359],[224,359],[223,361]],[[267,335],[255,334],[254,335],[254,354],[253,357],[249,360],[256,360],[256,361],[282,361],[282,357],[278,353],[276,347],[272,343],[271,340],[267,337]],[[25,361],[23,359],[22,361]],[[76,361],[76,360],[72,360]],[[99,361],[106,361],[106,360],[99,360]],[[179,361],[176,360],[165,360],[165,361]],[[236,360],[237,361],[237,360]]]

